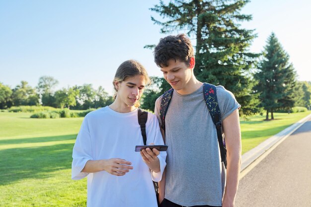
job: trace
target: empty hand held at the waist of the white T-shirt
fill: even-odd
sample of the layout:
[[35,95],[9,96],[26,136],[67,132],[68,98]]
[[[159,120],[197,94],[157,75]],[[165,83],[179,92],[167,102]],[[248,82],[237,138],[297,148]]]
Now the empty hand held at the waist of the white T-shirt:
[[111,175],[122,176],[133,169],[132,163],[125,159],[112,158],[103,160],[103,168]]

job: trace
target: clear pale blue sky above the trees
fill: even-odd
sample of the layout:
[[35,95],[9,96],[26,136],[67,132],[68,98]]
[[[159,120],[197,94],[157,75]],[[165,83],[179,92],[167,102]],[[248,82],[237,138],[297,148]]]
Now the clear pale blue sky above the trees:
[[[25,80],[35,87],[48,75],[59,81],[55,89],[87,83],[113,94],[115,71],[129,59],[161,76],[152,50],[144,49],[168,35],[151,20],[161,20],[149,9],[158,2],[0,0],[0,82],[14,88]],[[241,11],[253,16],[241,27],[257,34],[249,51],[261,52],[274,32],[298,79],[311,81],[310,8],[310,0],[251,0]]]

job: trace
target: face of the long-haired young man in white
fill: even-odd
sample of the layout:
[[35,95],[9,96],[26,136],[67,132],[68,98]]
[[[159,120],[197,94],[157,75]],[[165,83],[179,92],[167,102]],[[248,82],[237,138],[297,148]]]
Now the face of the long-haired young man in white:
[[143,75],[135,75],[126,78],[122,82],[115,82],[118,89],[117,100],[125,106],[134,106],[143,95],[146,79]]

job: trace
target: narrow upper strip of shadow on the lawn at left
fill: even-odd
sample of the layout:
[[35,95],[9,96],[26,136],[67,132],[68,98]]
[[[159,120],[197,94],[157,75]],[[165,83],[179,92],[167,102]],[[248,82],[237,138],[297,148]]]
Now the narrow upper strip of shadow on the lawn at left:
[[77,135],[63,135],[53,137],[39,137],[39,138],[17,138],[17,139],[2,139],[0,144],[21,144],[21,143],[36,143],[36,142],[48,142],[48,141],[62,141],[76,139]]

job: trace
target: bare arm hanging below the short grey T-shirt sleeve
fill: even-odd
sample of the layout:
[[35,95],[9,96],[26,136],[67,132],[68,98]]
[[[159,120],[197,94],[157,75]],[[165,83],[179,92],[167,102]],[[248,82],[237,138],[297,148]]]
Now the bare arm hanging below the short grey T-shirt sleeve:
[[226,139],[228,162],[223,207],[234,207],[241,165],[241,132],[238,110],[235,110],[223,120],[223,128]]

